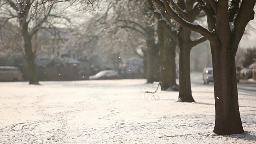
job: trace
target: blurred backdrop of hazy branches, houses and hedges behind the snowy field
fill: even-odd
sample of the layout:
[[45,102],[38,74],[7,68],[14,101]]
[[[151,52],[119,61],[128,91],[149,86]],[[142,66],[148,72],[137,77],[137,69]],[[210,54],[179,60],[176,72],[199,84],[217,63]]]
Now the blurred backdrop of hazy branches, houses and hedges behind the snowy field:
[[[146,78],[148,59],[152,58],[148,39],[158,47],[157,20],[146,5],[134,1],[106,1],[94,6],[81,3],[46,4],[28,10],[27,31],[36,78],[88,80],[102,70],[114,70],[118,78]],[[0,66],[17,67],[22,80],[27,81],[26,41],[17,18],[21,10],[10,4],[0,8]],[[194,22],[207,26],[205,16]],[[256,80],[254,25],[250,22],[236,54],[237,70],[245,80]],[[198,34],[192,32],[191,37],[195,39]],[[179,50],[174,50],[178,73]],[[212,67],[208,41],[194,46],[190,53],[191,71],[202,72],[205,67]]]

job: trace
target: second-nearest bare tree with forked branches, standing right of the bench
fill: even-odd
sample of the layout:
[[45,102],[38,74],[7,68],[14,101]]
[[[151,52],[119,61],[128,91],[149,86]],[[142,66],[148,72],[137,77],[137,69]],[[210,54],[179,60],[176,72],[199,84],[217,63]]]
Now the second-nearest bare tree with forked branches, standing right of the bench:
[[[154,6],[152,0],[147,0],[148,6],[151,11],[154,13],[154,16],[158,19],[159,23],[165,28],[165,30],[170,34],[172,39],[176,42],[179,47],[179,102],[195,102],[192,97],[191,91],[191,82],[190,82],[190,51],[192,47],[197,44],[204,42],[206,38],[200,37],[195,40],[191,38],[191,31],[186,30],[183,27],[174,26],[172,21],[166,16],[166,9],[162,1],[157,1],[160,8],[164,10],[160,11],[156,6]],[[179,14],[184,17],[184,19],[188,20],[188,22],[193,22],[194,20],[204,16],[201,13],[201,10],[197,7],[194,7],[194,2],[186,2],[183,0],[178,1],[176,4],[173,2],[172,4],[175,6],[176,10],[178,10]],[[182,8],[178,7],[180,5]],[[175,23],[174,23],[175,24]]]

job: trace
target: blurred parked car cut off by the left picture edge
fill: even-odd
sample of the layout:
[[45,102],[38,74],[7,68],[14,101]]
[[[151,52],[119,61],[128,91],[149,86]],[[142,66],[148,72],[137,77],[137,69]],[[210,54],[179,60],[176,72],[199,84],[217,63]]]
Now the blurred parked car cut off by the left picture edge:
[[22,72],[14,66],[0,66],[0,81],[20,81]]

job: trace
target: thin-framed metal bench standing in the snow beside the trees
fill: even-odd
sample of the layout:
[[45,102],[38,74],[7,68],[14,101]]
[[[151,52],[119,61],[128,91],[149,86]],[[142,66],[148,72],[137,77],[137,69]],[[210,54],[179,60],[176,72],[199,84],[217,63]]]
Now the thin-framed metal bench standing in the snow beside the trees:
[[144,96],[144,99],[147,100],[149,96],[151,96],[151,99],[154,98],[155,100],[160,100],[158,96],[158,88],[159,88],[160,82],[153,82],[152,85],[144,84],[140,87],[140,99],[142,99],[142,94]]

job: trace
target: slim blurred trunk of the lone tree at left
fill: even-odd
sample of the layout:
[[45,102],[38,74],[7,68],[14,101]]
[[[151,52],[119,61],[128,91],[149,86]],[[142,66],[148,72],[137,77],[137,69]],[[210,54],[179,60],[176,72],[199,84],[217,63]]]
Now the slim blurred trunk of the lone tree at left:
[[38,79],[36,78],[36,67],[34,64],[35,54],[32,50],[32,37],[28,34],[28,23],[26,19],[20,20],[20,27],[22,28],[22,36],[24,40],[24,50],[26,62],[28,64],[28,80],[29,84],[39,84]]

